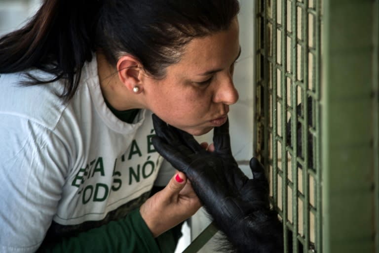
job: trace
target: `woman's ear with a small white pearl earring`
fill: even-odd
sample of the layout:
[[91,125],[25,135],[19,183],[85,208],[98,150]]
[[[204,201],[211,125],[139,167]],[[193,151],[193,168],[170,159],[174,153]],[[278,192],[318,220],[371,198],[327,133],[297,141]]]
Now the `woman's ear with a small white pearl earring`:
[[[118,78],[127,89],[133,92],[133,88],[138,86],[140,93],[142,91],[141,82],[141,63],[132,55],[124,55],[117,61]],[[134,92],[135,93],[135,92]]]

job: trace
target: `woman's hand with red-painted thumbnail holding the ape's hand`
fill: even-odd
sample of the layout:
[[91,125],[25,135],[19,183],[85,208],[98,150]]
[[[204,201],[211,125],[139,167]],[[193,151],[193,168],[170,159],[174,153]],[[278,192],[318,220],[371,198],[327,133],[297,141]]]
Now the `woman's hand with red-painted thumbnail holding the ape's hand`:
[[176,173],[167,186],[140,208],[142,218],[154,237],[188,219],[201,207],[183,172]]

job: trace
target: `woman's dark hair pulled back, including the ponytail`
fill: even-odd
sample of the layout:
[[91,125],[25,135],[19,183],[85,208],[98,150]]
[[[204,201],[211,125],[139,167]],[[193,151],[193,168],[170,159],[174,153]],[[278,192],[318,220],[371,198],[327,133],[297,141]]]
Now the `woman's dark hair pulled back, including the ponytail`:
[[190,40],[227,30],[238,0],[45,0],[20,30],[0,39],[0,73],[37,68],[65,79],[65,102],[75,94],[80,71],[101,48],[108,61],[130,53],[156,78],[180,60]]

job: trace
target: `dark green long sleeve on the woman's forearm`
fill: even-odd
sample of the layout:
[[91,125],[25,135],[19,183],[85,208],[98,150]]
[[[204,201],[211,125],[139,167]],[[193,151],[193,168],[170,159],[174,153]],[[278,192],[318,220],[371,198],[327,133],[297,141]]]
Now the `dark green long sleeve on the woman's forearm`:
[[125,218],[63,238],[58,243],[45,242],[40,253],[160,253],[160,249],[139,209]]

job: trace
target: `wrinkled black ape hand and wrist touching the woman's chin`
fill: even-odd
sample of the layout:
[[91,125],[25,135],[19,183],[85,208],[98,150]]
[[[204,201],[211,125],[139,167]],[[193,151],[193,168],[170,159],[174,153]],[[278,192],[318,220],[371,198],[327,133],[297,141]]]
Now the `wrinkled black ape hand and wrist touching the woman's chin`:
[[[283,226],[270,210],[264,168],[252,158],[249,179],[230,149],[228,122],[215,127],[215,151],[209,152],[187,132],[153,115],[152,143],[174,168],[184,172],[193,190],[238,253],[283,253]],[[228,249],[230,252],[230,249]]]

